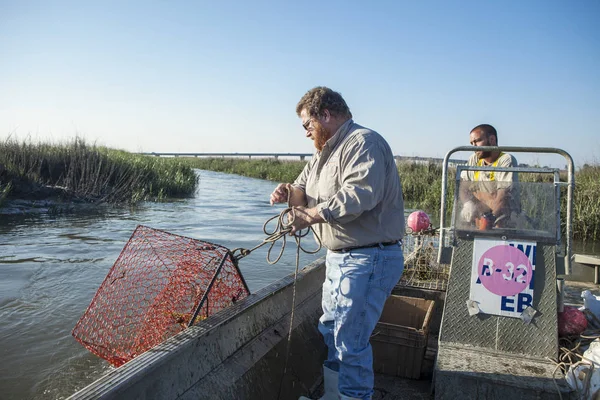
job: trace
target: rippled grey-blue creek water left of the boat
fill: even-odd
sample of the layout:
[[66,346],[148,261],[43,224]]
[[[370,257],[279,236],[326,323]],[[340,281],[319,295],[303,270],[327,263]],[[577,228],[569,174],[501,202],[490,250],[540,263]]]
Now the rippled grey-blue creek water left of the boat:
[[[60,399],[112,368],[84,349],[71,330],[138,224],[252,248],[271,207],[274,184],[200,171],[195,198],[135,209],[92,208],[68,215],[0,215],[0,398]],[[314,248],[309,238],[306,246]],[[264,246],[240,261],[251,292],[295,268],[295,243],[265,261]],[[301,264],[323,255],[302,253]],[[275,258],[277,254],[272,255]]]

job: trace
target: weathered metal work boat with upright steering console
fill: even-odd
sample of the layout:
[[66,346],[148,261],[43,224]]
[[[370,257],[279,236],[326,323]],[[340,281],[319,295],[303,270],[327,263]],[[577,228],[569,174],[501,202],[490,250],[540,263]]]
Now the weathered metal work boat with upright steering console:
[[[535,229],[479,230],[459,227],[455,210],[451,223],[447,224],[448,161],[457,151],[472,152],[475,149],[457,147],[444,158],[440,229],[436,231],[439,236],[410,235],[406,238],[405,246],[410,245],[413,249],[421,246],[423,241],[434,243],[438,251],[437,265],[445,265],[446,269],[438,271],[441,275],[432,280],[431,277],[421,279],[423,277],[413,266],[410,279],[403,277],[394,288],[393,296],[427,300],[432,306],[423,319],[408,327],[411,334],[422,335],[419,339],[424,339],[424,344],[421,341],[418,346],[409,345],[409,349],[400,354],[406,356],[408,351],[411,357],[416,357],[416,361],[410,361],[410,366],[418,368],[418,373],[412,374],[412,379],[393,368],[378,373],[375,380],[377,398],[575,398],[562,379],[564,376],[550,362],[552,357],[548,357],[558,352],[556,321],[557,310],[562,307],[562,292],[557,290],[556,283],[561,280],[561,274],[569,274],[571,269],[573,161],[568,153],[554,148],[477,148],[554,153],[565,157],[567,182],[560,181],[560,171],[555,168],[511,167],[508,170],[554,177],[546,185],[530,188],[532,192],[552,197],[553,218],[556,211],[560,211],[560,187],[566,188],[566,238],[561,237],[560,219],[556,218],[545,220],[547,226],[535,226]],[[473,167],[459,165],[456,168],[457,176],[460,176],[461,171]],[[525,191],[526,186],[521,189]],[[470,315],[468,312],[465,301],[470,298],[468,286],[474,243],[487,243],[486,240],[537,244],[537,279],[535,285],[531,281],[533,294],[529,302],[537,315],[529,322],[522,315],[482,312]],[[565,250],[563,241],[566,242]],[[407,266],[405,271],[409,270],[411,268]],[[442,276],[448,271],[449,279]],[[301,395],[318,398],[322,392],[322,362],[326,355],[317,329],[324,275],[325,261],[321,258],[296,274],[198,321],[69,399],[263,400],[297,399]],[[295,304],[293,308],[292,304]],[[480,305],[482,308],[487,305],[486,300],[481,300]],[[427,326],[422,326],[424,323]],[[288,334],[290,324],[292,329]],[[515,344],[517,338],[519,341]],[[397,351],[397,343],[390,340],[387,348]],[[406,363],[405,358],[398,362]]]

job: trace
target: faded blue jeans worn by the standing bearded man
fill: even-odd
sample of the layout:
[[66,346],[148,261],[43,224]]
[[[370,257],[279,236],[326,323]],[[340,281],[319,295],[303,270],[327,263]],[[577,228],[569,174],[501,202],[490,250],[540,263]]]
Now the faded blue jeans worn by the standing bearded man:
[[385,300],[404,269],[399,244],[327,252],[323,315],[319,331],[328,348],[325,367],[339,372],[344,396],[373,395],[373,352],[369,339]]

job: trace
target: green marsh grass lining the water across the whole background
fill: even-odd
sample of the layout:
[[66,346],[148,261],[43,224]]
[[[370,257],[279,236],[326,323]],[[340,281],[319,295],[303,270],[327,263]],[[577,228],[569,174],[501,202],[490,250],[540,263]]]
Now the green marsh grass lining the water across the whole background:
[[[0,143],[0,206],[4,199],[48,197],[89,203],[160,201],[193,196],[198,184],[194,168],[273,182],[293,182],[305,164],[305,161],[275,159],[144,156],[90,145],[80,138],[58,145],[7,139]],[[398,173],[407,206],[437,216],[442,187],[441,165],[399,162]],[[551,179],[548,174],[520,176],[523,182],[548,179]],[[600,240],[600,165],[580,168],[575,174],[575,182],[574,236]],[[448,185],[447,189],[450,211],[454,185]],[[561,209],[565,215],[564,188]]]

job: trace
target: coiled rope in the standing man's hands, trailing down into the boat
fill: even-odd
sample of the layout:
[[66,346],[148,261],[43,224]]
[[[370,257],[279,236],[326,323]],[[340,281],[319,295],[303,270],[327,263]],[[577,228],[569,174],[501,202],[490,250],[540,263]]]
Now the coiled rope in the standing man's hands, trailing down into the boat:
[[[290,346],[292,343],[292,330],[294,327],[294,311],[296,309],[296,281],[298,279],[298,269],[300,267],[300,251],[303,251],[304,253],[307,253],[307,254],[316,254],[317,252],[319,252],[319,250],[321,250],[321,247],[322,247],[321,239],[315,233],[315,231],[312,227],[308,227],[307,229],[296,231],[292,234],[292,225],[293,225],[295,219],[296,219],[296,210],[294,209],[294,207],[290,206],[290,192],[288,191],[288,207],[286,209],[284,209],[283,211],[281,211],[281,213],[279,213],[279,215],[275,215],[275,216],[269,218],[263,224],[263,232],[265,233],[265,235],[267,235],[267,237],[265,239],[263,239],[262,243],[258,244],[257,246],[254,246],[251,249],[237,248],[231,252],[237,262],[240,259],[248,256],[254,250],[256,250],[266,244],[270,244],[269,250],[267,251],[267,262],[269,264],[276,264],[283,256],[283,252],[284,252],[285,246],[286,246],[286,240],[287,240],[286,238],[291,235],[291,236],[293,236],[294,240],[296,241],[296,269],[294,270],[294,283],[292,286],[292,310],[290,312],[290,328],[288,330],[287,343],[286,343],[286,348],[285,348],[285,363],[284,363],[284,367],[283,367],[283,374],[281,376],[281,380],[279,381],[279,394],[277,396],[278,399],[281,398],[281,391],[283,389],[283,380],[287,374],[288,362],[289,362],[289,358],[290,358]],[[270,230],[268,230],[267,227],[269,226],[269,223],[271,223],[271,221],[273,221],[273,220],[276,220],[277,223],[275,225],[275,228],[272,231],[270,231]],[[307,250],[304,247],[302,247],[302,244],[301,244],[302,238],[307,236],[310,232],[313,233],[315,239],[317,240],[318,247],[315,250]],[[280,239],[283,241],[281,244],[281,249],[280,249],[277,257],[274,260],[272,260],[271,259],[271,251],[273,250],[273,247],[275,247],[275,243],[277,243],[277,241]]]

